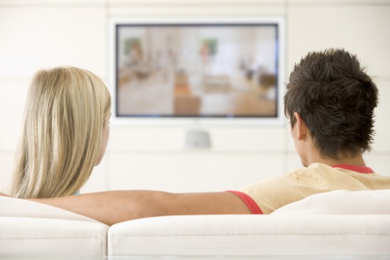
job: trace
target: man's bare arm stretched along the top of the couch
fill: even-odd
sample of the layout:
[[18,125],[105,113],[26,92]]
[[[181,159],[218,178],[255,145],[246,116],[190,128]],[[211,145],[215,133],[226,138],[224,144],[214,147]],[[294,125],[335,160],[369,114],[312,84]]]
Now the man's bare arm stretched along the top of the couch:
[[119,190],[50,199],[30,199],[106,224],[165,215],[250,214],[233,193],[165,193]]

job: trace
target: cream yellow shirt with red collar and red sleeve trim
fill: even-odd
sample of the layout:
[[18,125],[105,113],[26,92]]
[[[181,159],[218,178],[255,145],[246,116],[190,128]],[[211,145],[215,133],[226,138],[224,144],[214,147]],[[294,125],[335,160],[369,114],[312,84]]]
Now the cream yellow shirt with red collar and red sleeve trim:
[[[247,185],[233,193],[241,197],[251,210],[257,205],[260,207],[257,213],[269,214],[279,207],[316,193],[385,189],[390,189],[390,177],[378,175],[371,168],[347,165],[332,167],[313,163],[288,175]],[[254,210],[252,212],[256,213]]]

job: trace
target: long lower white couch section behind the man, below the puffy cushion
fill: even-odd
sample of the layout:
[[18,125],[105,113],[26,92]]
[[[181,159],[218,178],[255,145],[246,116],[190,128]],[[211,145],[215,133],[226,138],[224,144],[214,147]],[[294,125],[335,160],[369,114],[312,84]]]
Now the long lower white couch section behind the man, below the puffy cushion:
[[382,256],[389,244],[390,215],[169,216],[108,230],[109,256]]

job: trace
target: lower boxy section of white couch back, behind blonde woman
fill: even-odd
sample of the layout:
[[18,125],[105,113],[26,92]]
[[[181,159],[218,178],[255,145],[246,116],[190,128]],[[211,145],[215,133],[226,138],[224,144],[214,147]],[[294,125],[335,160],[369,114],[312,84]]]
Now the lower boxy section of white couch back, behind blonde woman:
[[0,217],[0,259],[103,259],[108,226],[38,217]]

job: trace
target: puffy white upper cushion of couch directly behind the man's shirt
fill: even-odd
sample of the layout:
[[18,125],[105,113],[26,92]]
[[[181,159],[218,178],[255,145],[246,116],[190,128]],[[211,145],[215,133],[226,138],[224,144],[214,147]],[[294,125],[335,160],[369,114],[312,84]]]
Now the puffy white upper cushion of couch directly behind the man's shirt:
[[293,202],[272,212],[279,214],[390,215],[390,190],[335,190]]

